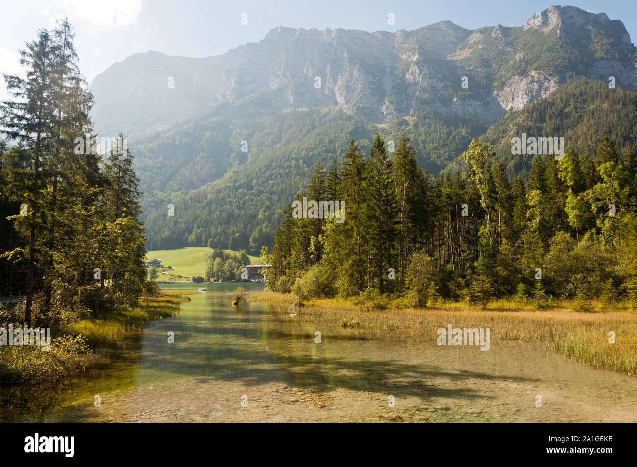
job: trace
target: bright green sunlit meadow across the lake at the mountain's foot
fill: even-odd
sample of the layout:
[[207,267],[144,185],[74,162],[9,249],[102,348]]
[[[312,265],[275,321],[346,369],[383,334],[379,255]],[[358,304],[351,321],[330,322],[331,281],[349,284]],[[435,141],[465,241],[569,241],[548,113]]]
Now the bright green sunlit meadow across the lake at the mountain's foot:
[[[233,250],[225,250],[231,254],[238,253]],[[180,282],[188,280],[190,277],[203,276],[206,257],[212,253],[208,247],[187,247],[176,250],[152,250],[147,252],[146,259],[161,259],[159,271],[159,281]],[[259,257],[250,256],[250,262],[257,264]],[[166,266],[173,266],[168,269]],[[168,274],[162,274],[167,272]]]

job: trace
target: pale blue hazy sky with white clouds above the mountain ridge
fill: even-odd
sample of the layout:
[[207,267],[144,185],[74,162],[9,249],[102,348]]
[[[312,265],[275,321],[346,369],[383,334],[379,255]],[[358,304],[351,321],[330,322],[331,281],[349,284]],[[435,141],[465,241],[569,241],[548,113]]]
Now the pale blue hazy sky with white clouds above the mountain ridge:
[[[502,24],[520,26],[547,1],[168,1],[168,0],[23,0],[0,6],[0,73],[16,73],[17,50],[35,38],[39,28],[69,17],[76,28],[80,67],[89,82],[113,62],[138,52],[207,57],[224,54],[247,42],[257,42],[283,25],[310,29],[397,31],[452,20],[467,29]],[[573,6],[620,19],[637,38],[635,0],[576,1]],[[241,24],[247,13],[248,24]],[[396,24],[387,23],[394,13]],[[4,86],[0,98],[4,97]]]

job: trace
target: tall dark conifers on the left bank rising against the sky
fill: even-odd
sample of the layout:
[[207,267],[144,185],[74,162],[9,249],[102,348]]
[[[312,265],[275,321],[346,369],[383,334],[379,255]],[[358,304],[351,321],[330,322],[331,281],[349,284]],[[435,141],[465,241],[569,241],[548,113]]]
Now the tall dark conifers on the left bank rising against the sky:
[[20,54],[27,78],[5,75],[15,100],[0,105],[0,296],[24,296],[27,326],[57,328],[142,294],[141,193],[127,145],[102,155],[91,140],[69,22]]

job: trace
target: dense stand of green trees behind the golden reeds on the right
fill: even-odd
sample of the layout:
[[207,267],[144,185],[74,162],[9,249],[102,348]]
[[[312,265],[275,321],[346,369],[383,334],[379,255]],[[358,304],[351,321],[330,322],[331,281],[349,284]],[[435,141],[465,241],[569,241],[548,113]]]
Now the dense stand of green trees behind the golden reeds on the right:
[[462,154],[464,174],[432,178],[403,135],[376,134],[341,162],[315,167],[304,196],[344,200],[345,222],[297,219],[276,233],[271,286],[301,296],[428,300],[637,299],[637,161],[604,136],[596,154],[536,155],[510,180],[488,143]]

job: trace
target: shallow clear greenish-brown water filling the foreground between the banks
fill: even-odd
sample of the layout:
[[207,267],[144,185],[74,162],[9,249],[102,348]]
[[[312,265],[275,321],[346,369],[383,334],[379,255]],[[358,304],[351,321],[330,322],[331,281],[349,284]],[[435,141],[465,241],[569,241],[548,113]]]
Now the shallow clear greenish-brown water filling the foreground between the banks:
[[637,421],[637,378],[568,361],[543,344],[491,341],[481,352],[398,333],[372,338],[268,305],[233,307],[236,285],[206,287],[180,315],[127,336],[103,352],[107,363],[62,387],[0,389],[0,419]]

